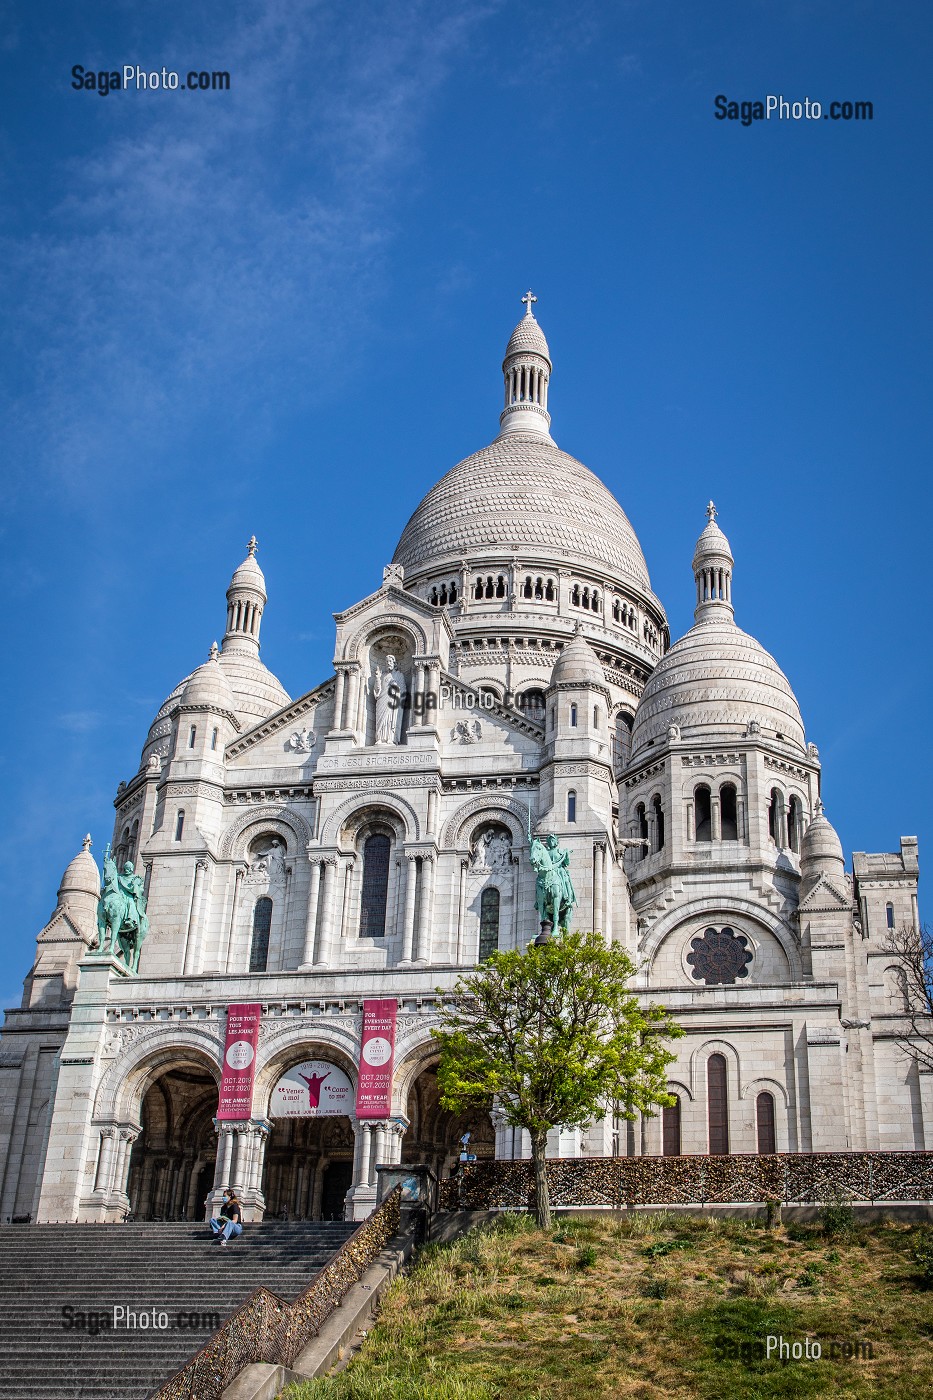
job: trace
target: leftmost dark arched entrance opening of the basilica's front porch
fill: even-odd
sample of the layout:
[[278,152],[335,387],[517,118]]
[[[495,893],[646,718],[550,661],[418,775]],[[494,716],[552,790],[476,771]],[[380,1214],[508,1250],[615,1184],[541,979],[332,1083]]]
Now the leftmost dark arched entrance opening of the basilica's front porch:
[[214,1179],[217,1081],[198,1064],[168,1068],[140,1105],[141,1131],[129,1162],[136,1219],[203,1219]]

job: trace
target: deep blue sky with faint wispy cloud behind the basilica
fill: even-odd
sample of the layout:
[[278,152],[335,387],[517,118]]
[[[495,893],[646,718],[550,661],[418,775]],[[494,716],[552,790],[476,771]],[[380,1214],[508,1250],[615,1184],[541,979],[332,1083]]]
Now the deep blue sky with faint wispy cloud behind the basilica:
[[[672,634],[712,496],[846,853],[916,833],[925,862],[932,38],[857,0],[4,10],[4,1005],[248,536],[297,696],[495,435],[528,286],[553,434]],[[76,63],[231,90],[99,97]],[[874,120],[744,127],[717,94]]]

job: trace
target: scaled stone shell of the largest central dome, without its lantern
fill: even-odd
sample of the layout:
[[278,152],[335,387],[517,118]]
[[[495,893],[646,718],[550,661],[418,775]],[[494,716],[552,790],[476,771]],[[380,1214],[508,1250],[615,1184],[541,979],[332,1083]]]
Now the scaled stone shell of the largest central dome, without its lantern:
[[595,568],[650,591],[642,546],[598,476],[541,433],[511,433],[458,462],[402,531],[406,581],[443,563],[517,553]]

